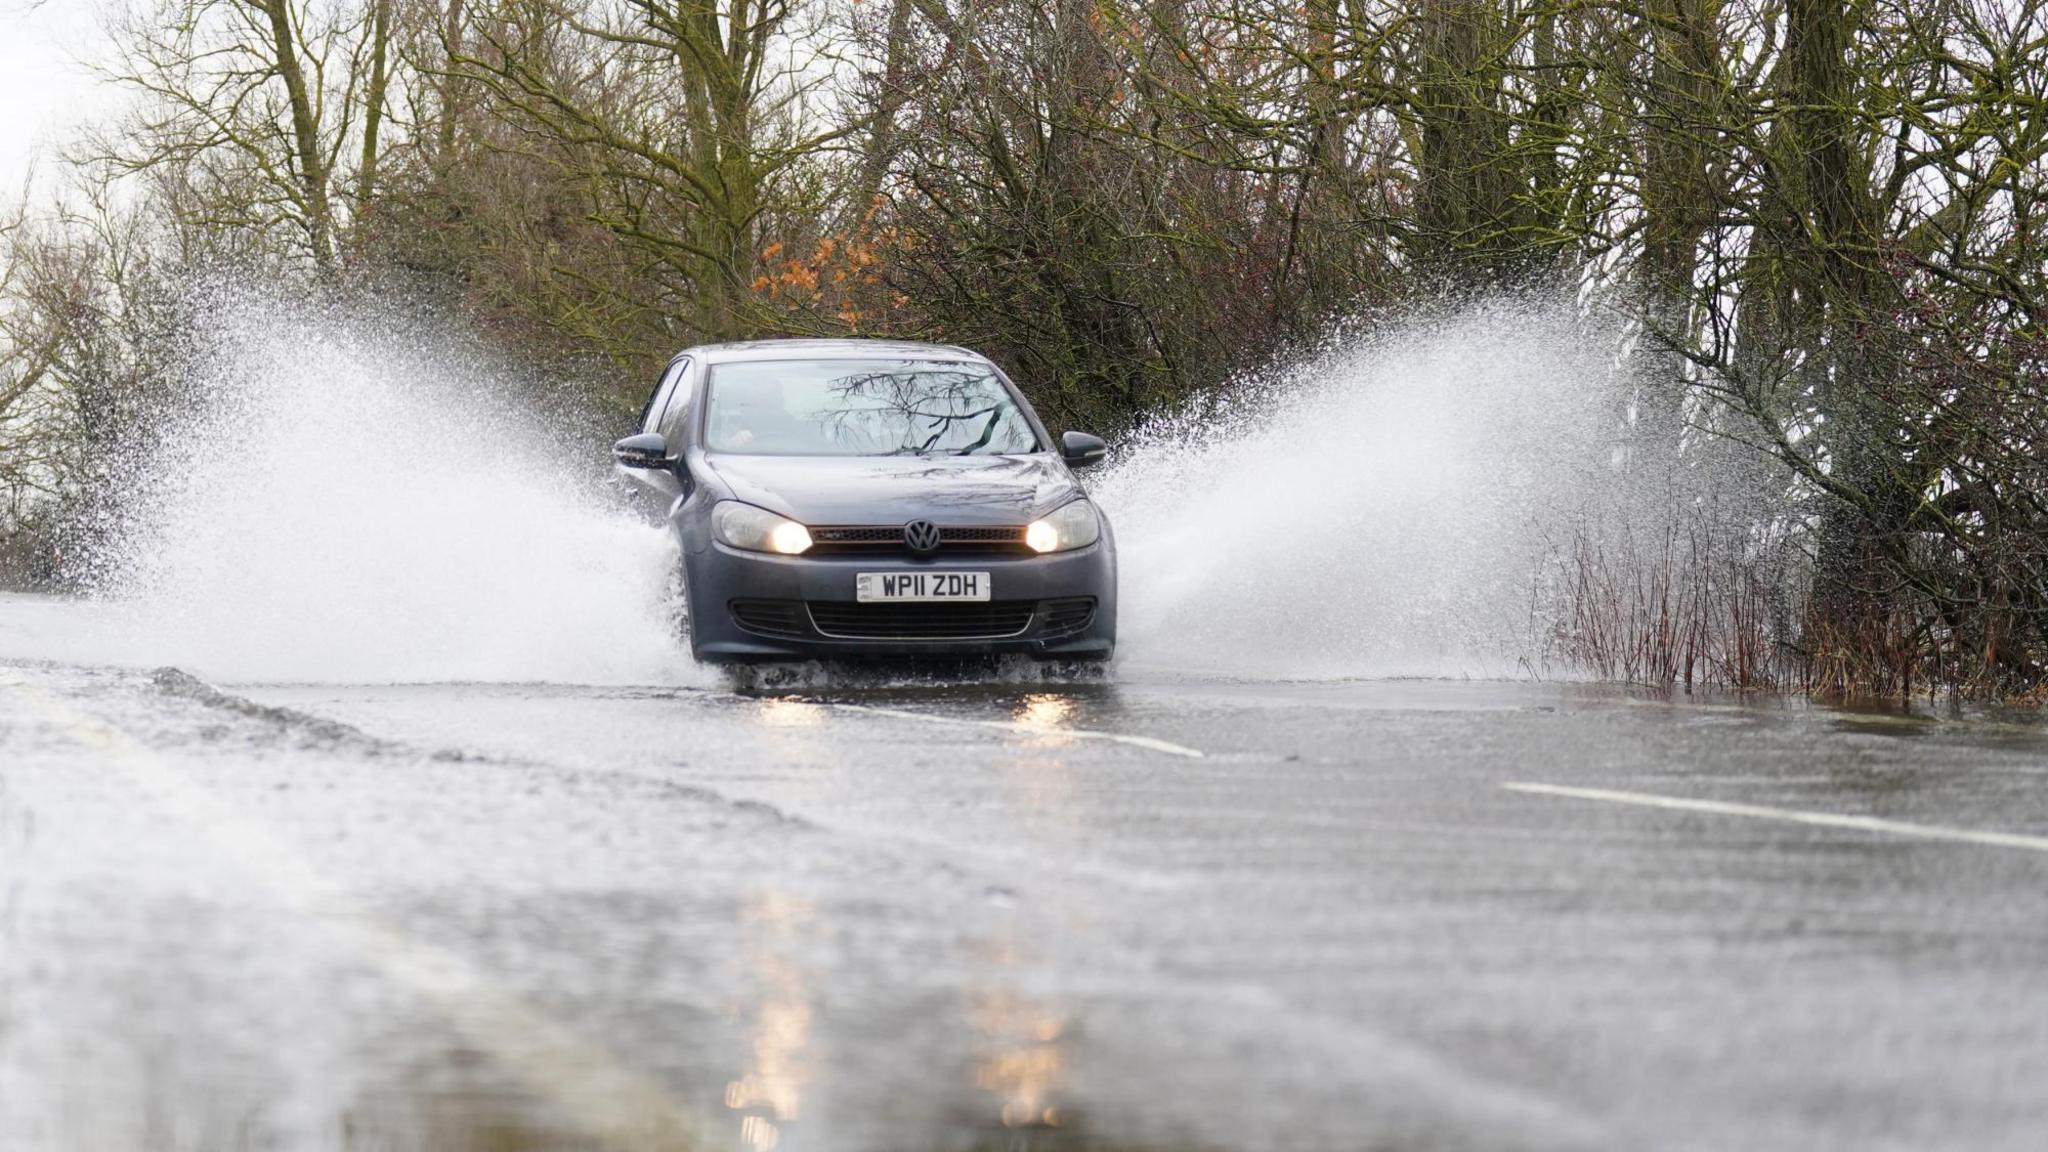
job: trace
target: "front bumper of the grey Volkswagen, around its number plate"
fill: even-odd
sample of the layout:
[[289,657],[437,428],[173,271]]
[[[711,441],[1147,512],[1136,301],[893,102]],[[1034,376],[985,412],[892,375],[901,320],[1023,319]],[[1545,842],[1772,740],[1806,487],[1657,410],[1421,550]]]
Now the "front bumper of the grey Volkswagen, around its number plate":
[[[995,654],[1108,660],[1116,650],[1116,549],[1108,533],[1090,547],[1053,556],[944,560],[762,556],[709,543],[684,553],[682,564],[690,648],[709,662]],[[987,572],[991,605],[987,613],[977,609],[977,619],[997,623],[975,631],[1001,635],[848,637],[846,631],[862,631],[846,625],[848,611],[858,605],[854,578],[860,572]],[[1092,601],[1092,609],[1083,613],[1081,601]]]

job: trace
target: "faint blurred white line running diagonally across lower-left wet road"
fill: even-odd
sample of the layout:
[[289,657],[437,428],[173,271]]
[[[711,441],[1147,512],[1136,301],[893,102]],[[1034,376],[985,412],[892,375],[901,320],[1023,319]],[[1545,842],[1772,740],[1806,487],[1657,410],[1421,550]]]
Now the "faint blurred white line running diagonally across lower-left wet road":
[[123,771],[166,814],[205,830],[254,877],[313,910],[313,922],[338,947],[371,961],[393,984],[432,1000],[471,1043],[551,1099],[606,1148],[682,1152],[717,1144],[705,1119],[659,1080],[541,1013],[469,957],[383,924],[352,890],[127,732],[8,672],[0,672],[0,695],[96,750],[106,767]]

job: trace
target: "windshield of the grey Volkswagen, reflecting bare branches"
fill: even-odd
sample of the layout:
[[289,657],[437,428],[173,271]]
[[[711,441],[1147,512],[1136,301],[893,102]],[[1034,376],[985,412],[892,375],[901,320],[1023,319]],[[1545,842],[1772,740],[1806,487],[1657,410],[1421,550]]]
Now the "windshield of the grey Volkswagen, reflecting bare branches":
[[1004,455],[1038,437],[987,365],[735,361],[711,369],[711,451],[748,455]]

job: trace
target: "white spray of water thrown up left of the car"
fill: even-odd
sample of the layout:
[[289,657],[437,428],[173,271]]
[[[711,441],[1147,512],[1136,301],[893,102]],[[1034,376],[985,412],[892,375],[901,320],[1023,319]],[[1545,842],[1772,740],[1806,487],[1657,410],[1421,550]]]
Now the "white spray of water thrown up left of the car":
[[[233,681],[674,681],[672,547],[401,303],[215,293],[98,549],[119,650]],[[113,642],[115,637],[106,637]]]

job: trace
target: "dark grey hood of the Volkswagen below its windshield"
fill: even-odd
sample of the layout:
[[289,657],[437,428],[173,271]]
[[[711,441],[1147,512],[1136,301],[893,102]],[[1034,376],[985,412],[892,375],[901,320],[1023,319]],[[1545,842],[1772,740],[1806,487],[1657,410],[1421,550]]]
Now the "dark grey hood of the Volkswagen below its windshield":
[[1079,486],[1053,455],[709,459],[735,500],[807,525],[1022,525]]

